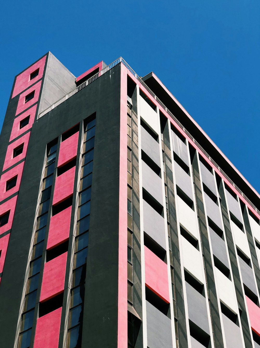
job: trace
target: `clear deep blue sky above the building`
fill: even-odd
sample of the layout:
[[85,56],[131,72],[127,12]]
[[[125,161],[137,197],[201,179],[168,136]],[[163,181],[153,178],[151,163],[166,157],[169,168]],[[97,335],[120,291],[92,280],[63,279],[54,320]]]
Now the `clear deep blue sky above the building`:
[[14,76],[51,51],[75,76],[150,71],[260,192],[259,0],[4,1],[0,128]]

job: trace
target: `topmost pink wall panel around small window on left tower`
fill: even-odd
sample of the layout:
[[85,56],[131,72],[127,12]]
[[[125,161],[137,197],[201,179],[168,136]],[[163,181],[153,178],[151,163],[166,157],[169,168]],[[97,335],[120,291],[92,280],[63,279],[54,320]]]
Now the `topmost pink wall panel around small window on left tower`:
[[[23,92],[26,88],[30,87],[36,81],[40,80],[43,76],[44,64],[45,64],[46,56],[40,59],[38,62],[34,63],[30,68],[26,69],[24,72],[19,74],[15,80],[15,87],[12,93],[12,98],[14,98],[17,94]],[[35,70],[39,69],[38,75],[30,80],[30,75]]]

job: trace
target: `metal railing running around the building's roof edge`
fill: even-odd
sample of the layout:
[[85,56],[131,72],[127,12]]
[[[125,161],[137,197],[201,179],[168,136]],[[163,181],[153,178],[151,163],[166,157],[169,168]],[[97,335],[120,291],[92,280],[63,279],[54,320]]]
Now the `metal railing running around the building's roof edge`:
[[197,145],[197,147],[204,153],[204,155],[211,161],[211,163],[213,163],[213,165],[220,171],[220,173],[226,178],[226,180],[228,180],[231,185],[234,186],[234,188],[240,193],[240,195],[248,202],[248,204],[250,204],[252,206],[252,208],[260,215],[260,211],[259,209],[257,209],[257,207],[255,207],[255,205],[250,201],[250,199],[248,197],[246,197],[244,195],[244,193],[237,187],[237,185],[229,178],[229,176],[218,166],[218,164],[209,156],[209,154],[200,146],[200,144],[197,142],[197,140],[195,140],[193,138],[193,136],[188,132],[187,129],[185,129],[183,127],[183,125],[180,123],[179,120],[176,119],[176,117],[171,113],[170,110],[168,110],[166,108],[166,106],[161,102],[161,100],[159,100],[159,98],[154,94],[154,92],[146,85],[146,83],[137,75],[137,73],[131,68],[131,66],[122,58],[119,57],[118,59],[116,59],[114,62],[112,62],[111,64],[107,65],[104,69],[102,69],[101,71],[97,72],[94,76],[90,77],[88,80],[86,80],[85,82],[83,82],[81,85],[79,85],[77,88],[73,89],[71,92],[69,92],[68,94],[66,94],[64,97],[60,98],[57,102],[55,102],[54,104],[52,104],[51,106],[49,106],[49,108],[47,108],[46,110],[44,110],[43,112],[41,112],[38,115],[38,118],[41,118],[42,116],[44,116],[46,113],[50,112],[51,110],[55,109],[58,105],[60,105],[61,103],[63,103],[64,101],[66,101],[68,98],[70,98],[72,95],[76,94],[77,92],[79,92],[81,89],[85,88],[86,86],[88,86],[89,84],[91,84],[93,81],[95,81],[96,79],[98,79],[100,76],[102,76],[103,74],[105,74],[107,71],[111,70],[112,68],[114,68],[115,65],[118,65],[122,63],[132,74],[133,76],[140,82],[140,84],[147,90],[147,92],[149,92],[149,94],[151,96],[154,97],[154,99],[157,101],[157,103],[159,105],[161,105],[161,107],[165,110],[166,113],[168,113],[171,118],[177,123],[177,125],[189,136],[189,138],[193,141],[193,143],[195,143]]

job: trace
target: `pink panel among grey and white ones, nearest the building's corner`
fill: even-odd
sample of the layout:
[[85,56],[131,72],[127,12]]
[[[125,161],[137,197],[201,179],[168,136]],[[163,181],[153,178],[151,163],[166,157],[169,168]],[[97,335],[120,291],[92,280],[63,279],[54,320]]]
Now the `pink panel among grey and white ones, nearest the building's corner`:
[[145,285],[170,303],[167,264],[145,246]]

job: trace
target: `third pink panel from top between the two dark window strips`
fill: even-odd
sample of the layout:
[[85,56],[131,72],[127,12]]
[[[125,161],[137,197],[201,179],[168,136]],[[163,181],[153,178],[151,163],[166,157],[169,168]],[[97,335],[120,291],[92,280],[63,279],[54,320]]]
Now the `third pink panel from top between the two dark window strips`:
[[65,242],[70,233],[71,206],[51,217],[47,250]]

